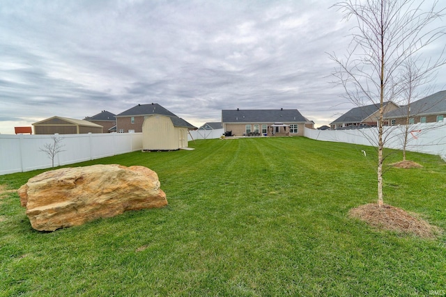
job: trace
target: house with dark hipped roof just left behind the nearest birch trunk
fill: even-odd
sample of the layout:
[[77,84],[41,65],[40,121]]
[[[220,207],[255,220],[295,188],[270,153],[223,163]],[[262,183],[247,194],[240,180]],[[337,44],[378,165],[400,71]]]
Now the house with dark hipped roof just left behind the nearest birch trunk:
[[[399,106],[394,102],[384,102],[384,113],[394,111]],[[330,123],[330,129],[351,129],[356,127],[376,127],[379,120],[379,104],[359,106],[347,111]]]

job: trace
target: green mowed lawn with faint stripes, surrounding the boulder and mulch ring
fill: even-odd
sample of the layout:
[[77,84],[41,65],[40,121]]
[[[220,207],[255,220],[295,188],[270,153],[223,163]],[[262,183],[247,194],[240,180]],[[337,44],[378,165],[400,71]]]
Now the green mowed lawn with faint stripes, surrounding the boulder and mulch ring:
[[[374,230],[373,147],[307,138],[190,142],[79,163],[155,170],[169,205],[55,232],[0,198],[0,296],[428,296],[446,291],[446,236]],[[361,150],[367,152],[367,157]],[[387,151],[390,152],[390,151]],[[446,166],[385,172],[385,203],[446,229]],[[401,160],[392,151],[386,163]],[[15,189],[43,172],[0,176]]]

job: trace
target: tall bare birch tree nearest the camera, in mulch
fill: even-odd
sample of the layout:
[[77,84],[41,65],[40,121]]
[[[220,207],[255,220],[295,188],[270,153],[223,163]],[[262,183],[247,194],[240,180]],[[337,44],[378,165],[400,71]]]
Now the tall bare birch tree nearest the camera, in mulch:
[[333,75],[344,86],[346,98],[357,106],[365,102],[379,106],[378,118],[378,205],[383,206],[383,149],[385,102],[403,95],[403,63],[422,53],[445,36],[444,26],[433,26],[445,9],[437,2],[423,11],[424,1],[346,0],[334,4],[344,19],[355,21],[352,49],[344,58],[330,54],[337,63]]

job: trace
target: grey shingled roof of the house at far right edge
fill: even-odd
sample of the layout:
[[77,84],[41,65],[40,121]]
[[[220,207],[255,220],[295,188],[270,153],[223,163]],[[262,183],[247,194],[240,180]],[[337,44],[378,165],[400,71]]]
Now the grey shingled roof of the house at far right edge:
[[[402,118],[407,115],[408,105],[385,113],[384,118]],[[446,90],[410,103],[410,115],[435,115],[446,113]]]

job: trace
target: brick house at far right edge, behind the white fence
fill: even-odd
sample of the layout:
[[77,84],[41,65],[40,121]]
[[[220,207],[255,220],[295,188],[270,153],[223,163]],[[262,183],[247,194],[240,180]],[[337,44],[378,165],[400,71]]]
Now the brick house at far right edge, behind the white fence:
[[388,125],[406,125],[408,115],[409,124],[443,121],[446,117],[446,90],[385,113],[384,119],[387,120]]

